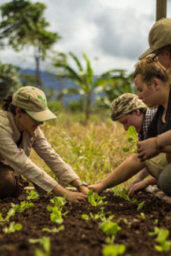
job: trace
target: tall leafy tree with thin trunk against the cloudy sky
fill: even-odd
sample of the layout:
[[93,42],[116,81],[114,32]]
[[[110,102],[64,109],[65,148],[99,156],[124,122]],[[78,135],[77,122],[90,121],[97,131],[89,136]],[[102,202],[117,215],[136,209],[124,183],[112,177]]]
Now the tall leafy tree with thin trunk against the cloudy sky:
[[57,33],[46,30],[49,26],[43,17],[46,5],[29,0],[13,0],[1,5],[0,9],[0,41],[7,39],[8,45],[16,51],[25,46],[34,46],[37,85],[40,86],[40,60],[44,60],[47,50],[60,38]]

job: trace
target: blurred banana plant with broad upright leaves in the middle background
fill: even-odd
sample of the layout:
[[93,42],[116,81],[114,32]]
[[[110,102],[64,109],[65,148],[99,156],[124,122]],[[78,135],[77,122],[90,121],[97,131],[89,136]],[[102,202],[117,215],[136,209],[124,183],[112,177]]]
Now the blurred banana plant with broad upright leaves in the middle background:
[[[83,53],[83,58],[86,64],[86,70],[83,70],[83,66],[81,65],[79,59],[73,53],[69,53],[69,56],[72,57],[72,60],[75,61],[77,70],[74,70],[71,65],[68,64],[65,56],[64,61],[59,61],[58,58],[55,61],[53,60],[53,65],[57,68],[62,68],[65,73],[63,73],[64,77],[68,77],[75,81],[78,87],[68,87],[61,91],[60,96],[69,95],[69,94],[80,94],[85,98],[85,123],[90,119],[91,112],[91,104],[92,104],[92,93],[94,89],[99,85],[104,85],[107,81],[105,79],[98,78],[96,79],[94,76],[94,72],[91,67],[91,63],[89,58],[85,53]],[[61,57],[61,56],[60,56]]]

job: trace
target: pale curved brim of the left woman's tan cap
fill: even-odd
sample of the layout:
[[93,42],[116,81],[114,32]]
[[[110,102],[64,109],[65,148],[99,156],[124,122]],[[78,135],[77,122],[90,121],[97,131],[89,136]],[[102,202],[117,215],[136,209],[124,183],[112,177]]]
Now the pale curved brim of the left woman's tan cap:
[[46,109],[44,111],[36,111],[36,112],[28,111],[28,110],[25,110],[25,111],[29,116],[31,116],[31,118],[33,118],[38,122],[45,122],[45,121],[57,118],[57,116],[55,116],[53,112],[51,112],[49,109]]

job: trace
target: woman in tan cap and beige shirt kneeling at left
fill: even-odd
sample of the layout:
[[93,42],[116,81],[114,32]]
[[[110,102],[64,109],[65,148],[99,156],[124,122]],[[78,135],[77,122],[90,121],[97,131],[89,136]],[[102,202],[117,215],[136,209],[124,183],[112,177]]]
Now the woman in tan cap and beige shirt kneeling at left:
[[[51,148],[44,137],[40,125],[56,116],[47,108],[46,96],[42,90],[25,86],[4,99],[0,111],[0,198],[17,198],[23,186],[17,178],[18,173],[31,181],[39,196],[47,192],[64,196],[70,202],[85,202],[88,188],[69,164]],[[40,169],[29,153],[34,148],[40,158],[54,172],[62,185],[71,184],[79,192],[70,192],[58,184],[50,175]]]

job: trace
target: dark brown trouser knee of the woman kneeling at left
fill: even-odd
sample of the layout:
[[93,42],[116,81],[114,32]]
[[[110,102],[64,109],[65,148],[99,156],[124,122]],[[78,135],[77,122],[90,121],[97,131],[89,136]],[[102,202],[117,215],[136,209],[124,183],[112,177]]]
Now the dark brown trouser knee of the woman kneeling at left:
[[23,191],[12,168],[0,162],[0,199],[17,198]]

